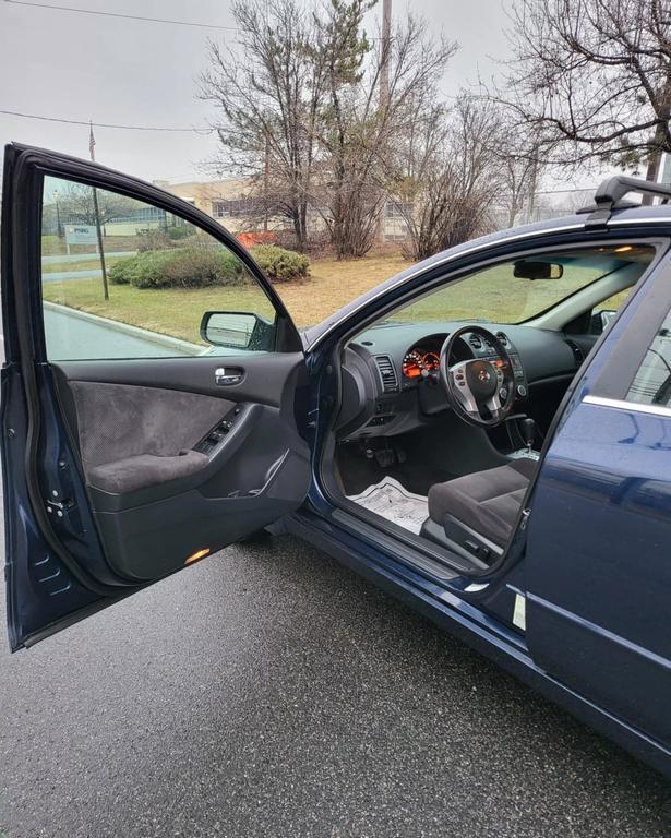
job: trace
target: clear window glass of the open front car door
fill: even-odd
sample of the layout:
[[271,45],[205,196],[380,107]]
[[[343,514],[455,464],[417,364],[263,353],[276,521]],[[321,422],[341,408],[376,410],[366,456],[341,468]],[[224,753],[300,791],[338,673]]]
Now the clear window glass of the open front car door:
[[[231,250],[161,207],[53,177],[43,190],[41,295],[49,360],[274,345],[273,303]],[[208,311],[221,314],[202,333]]]

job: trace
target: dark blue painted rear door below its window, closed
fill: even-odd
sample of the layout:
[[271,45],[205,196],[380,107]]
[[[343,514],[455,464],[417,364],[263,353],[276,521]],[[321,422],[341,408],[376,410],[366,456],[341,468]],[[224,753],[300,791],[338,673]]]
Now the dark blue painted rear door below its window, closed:
[[[633,428],[644,451],[623,453]],[[562,429],[529,524],[527,642],[553,675],[669,745],[671,647],[660,631],[671,586],[669,488],[660,479],[669,455],[656,451],[649,470],[630,464],[639,453],[645,462],[666,432],[651,417],[588,404]]]

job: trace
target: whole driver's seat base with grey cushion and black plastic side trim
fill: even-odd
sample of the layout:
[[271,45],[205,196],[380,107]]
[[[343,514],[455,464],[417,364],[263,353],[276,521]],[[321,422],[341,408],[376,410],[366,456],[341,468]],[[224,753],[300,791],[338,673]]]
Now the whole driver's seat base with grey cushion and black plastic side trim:
[[[500,554],[537,467],[537,460],[524,457],[435,483],[429,489],[429,518],[421,535],[443,543],[440,536],[444,532],[447,541],[456,541],[486,561],[491,553]],[[480,536],[483,543],[474,542],[472,536]]]

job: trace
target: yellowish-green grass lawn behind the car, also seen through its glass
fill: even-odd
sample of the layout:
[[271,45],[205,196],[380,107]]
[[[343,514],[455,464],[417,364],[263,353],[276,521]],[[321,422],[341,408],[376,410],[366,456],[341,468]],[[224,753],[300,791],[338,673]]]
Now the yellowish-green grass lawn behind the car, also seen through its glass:
[[[348,262],[313,260],[308,280],[280,283],[275,287],[295,323],[310,326],[409,264],[400,255],[372,255]],[[72,265],[73,270],[87,267],[88,261],[76,263],[76,268]],[[97,267],[97,263],[92,267]],[[62,263],[45,268],[70,270]],[[404,321],[480,319],[516,323],[587,285],[601,271],[587,265],[574,266],[561,279],[531,283],[514,277],[510,264],[494,266],[420,298],[392,316]],[[47,283],[44,296],[52,302],[199,344],[205,311],[253,311],[273,316],[269,302],[253,285],[194,289],[110,285],[110,299],[106,302],[100,278],[82,278]]]

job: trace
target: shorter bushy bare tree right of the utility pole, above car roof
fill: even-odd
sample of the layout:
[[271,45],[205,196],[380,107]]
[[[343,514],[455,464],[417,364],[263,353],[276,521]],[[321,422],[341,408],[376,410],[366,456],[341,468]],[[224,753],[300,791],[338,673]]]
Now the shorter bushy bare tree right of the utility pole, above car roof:
[[395,203],[408,229],[406,253],[424,259],[492,228],[501,185],[496,109],[463,96],[435,106],[397,170]]

